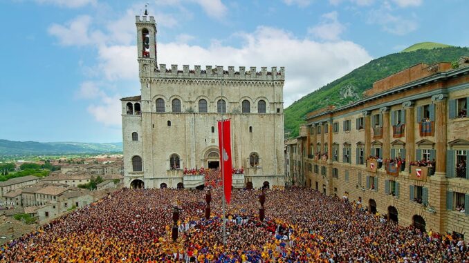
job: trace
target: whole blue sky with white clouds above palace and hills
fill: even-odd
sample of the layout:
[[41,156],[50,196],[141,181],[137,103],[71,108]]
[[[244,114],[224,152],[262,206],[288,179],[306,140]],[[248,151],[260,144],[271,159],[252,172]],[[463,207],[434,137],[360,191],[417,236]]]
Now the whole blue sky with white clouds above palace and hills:
[[469,46],[467,0],[0,0],[0,139],[122,142],[146,4],[158,64],[284,66],[285,108],[414,43]]

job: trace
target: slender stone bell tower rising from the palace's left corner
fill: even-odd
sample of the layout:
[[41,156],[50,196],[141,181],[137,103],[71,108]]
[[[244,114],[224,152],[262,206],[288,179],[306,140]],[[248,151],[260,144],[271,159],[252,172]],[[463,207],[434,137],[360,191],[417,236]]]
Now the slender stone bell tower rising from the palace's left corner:
[[150,77],[158,68],[156,64],[156,22],[154,17],[147,17],[147,10],[142,17],[136,16],[137,57],[140,77]]

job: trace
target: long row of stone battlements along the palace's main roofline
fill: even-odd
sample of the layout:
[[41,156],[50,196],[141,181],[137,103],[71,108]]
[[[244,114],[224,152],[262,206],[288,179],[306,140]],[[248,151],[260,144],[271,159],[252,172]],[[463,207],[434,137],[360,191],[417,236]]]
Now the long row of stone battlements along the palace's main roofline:
[[257,71],[256,67],[250,67],[246,70],[246,67],[239,67],[235,71],[234,66],[229,66],[228,70],[224,70],[223,66],[205,66],[205,70],[202,70],[201,66],[194,66],[194,69],[190,69],[188,65],[183,65],[182,70],[178,69],[178,65],[171,65],[171,68],[167,68],[166,64],[160,64],[160,67],[155,70],[157,78],[181,78],[181,79],[239,79],[239,80],[285,80],[285,68],[272,67],[270,71],[267,71],[267,67],[261,67],[261,71]]

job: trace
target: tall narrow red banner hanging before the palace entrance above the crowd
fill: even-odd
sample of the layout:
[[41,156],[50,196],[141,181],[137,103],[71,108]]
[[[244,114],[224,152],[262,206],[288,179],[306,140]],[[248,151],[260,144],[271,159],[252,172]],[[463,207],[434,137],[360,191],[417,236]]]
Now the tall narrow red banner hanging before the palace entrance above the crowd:
[[[222,125],[223,124],[223,125]],[[231,162],[231,121],[224,119],[218,121],[218,142],[220,148],[220,166],[223,180],[225,182],[223,191],[225,199],[230,204],[232,185],[232,162]]]

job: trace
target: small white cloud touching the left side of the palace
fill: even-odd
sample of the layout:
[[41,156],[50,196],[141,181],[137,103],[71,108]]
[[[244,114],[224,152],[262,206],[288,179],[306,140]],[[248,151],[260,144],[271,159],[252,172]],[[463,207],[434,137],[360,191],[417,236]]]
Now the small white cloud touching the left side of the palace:
[[118,126],[121,124],[120,95],[108,97],[103,95],[100,104],[91,104],[86,108],[96,121],[106,126]]

